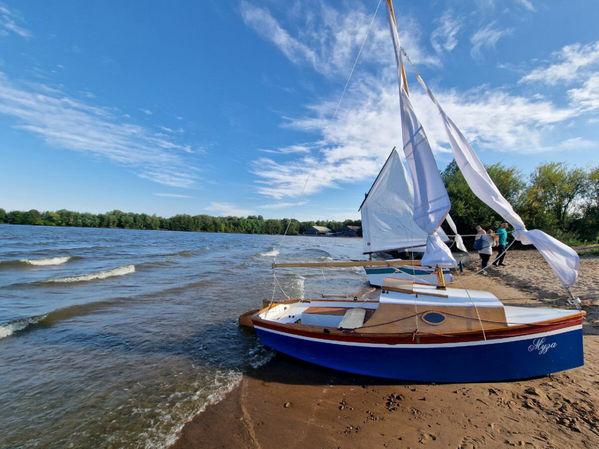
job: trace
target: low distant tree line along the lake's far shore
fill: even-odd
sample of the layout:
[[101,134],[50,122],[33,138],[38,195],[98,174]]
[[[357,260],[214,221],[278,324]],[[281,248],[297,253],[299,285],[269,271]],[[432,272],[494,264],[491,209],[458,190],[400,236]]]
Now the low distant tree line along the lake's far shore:
[[310,226],[326,226],[335,232],[341,227],[361,226],[361,220],[317,220],[299,222],[289,219],[267,219],[261,215],[248,217],[212,217],[208,215],[179,214],[168,219],[156,215],[135,214],[114,210],[105,214],[90,214],[68,211],[56,212],[30,211],[6,212],[0,208],[0,223],[10,225],[77,226],[77,227],[119,227],[121,229],[165,229],[202,232],[237,232],[246,234],[282,234],[289,225],[288,234],[298,235]]

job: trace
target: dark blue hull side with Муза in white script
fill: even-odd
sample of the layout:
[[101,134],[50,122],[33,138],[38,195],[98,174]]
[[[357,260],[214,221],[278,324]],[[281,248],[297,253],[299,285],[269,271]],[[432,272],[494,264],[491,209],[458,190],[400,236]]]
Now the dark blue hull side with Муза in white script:
[[424,382],[539,377],[584,364],[582,328],[467,344],[381,345],[301,338],[256,326],[262,344],[317,365],[355,374]]

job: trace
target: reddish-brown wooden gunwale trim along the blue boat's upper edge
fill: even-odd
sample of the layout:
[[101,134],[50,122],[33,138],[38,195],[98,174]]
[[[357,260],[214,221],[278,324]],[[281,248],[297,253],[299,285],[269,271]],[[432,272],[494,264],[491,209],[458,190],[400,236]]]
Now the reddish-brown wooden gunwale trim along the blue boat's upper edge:
[[[519,331],[528,330],[530,332],[525,332],[525,335],[529,333],[534,335],[535,333],[546,332],[544,327],[552,327],[550,330],[558,330],[563,329],[564,327],[576,326],[578,324],[582,324],[582,318],[586,315],[586,312],[580,312],[577,314],[573,314],[567,317],[556,318],[553,320],[539,321],[537,323],[530,324],[518,324],[516,326],[501,326],[494,329],[485,330],[485,336],[487,339],[497,339],[497,338],[509,338],[510,334],[519,335]],[[342,330],[334,329],[326,326],[314,326],[308,324],[294,324],[294,323],[274,323],[273,321],[263,320],[258,317],[258,315],[254,315],[252,317],[252,321],[254,324],[258,324],[261,327],[266,327],[271,330],[279,330],[279,332],[290,333],[292,335],[299,336],[308,336],[311,338],[332,340],[332,341],[348,341],[348,342],[364,342],[364,336],[368,337],[368,340],[374,343],[386,343],[392,342],[394,340],[405,340],[406,338],[412,337],[413,333],[404,332],[404,333],[388,333],[388,334],[380,334],[380,333],[369,333],[369,332],[359,332],[359,328],[356,329],[359,333],[346,333]],[[573,321],[579,321],[577,323],[573,323]],[[561,323],[561,325],[560,325]],[[324,333],[323,330],[328,329],[329,333]],[[420,339],[420,343],[426,344],[430,342],[461,342],[461,341],[477,341],[483,338],[483,332],[480,330],[465,330],[465,331],[453,331],[446,332],[443,335],[432,335],[431,333],[419,333],[417,334]],[[410,342],[405,342],[408,344],[413,344]]]

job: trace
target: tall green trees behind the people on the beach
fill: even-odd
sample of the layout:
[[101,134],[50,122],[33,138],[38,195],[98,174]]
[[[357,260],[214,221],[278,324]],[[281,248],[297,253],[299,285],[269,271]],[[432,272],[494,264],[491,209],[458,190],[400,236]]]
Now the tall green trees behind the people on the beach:
[[[501,163],[485,166],[489,176],[524,220],[571,245],[598,242],[599,166],[571,168],[563,162],[541,163],[528,177]],[[458,232],[476,233],[477,225],[497,229],[503,219],[478,199],[453,160],[441,177],[451,200]]]

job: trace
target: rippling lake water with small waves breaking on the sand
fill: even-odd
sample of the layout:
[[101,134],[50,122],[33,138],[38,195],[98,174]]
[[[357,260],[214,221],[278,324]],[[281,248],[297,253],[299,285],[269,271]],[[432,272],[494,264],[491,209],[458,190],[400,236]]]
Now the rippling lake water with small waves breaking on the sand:
[[[0,446],[171,444],[272,357],[237,317],[273,296],[273,256],[361,258],[359,238],[280,239],[0,225]],[[368,286],[356,268],[277,279],[294,298]]]

